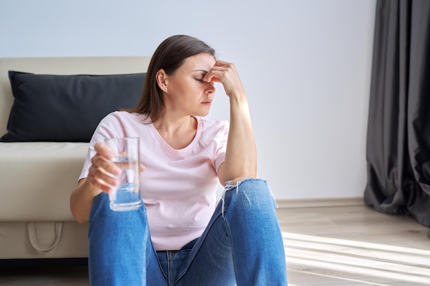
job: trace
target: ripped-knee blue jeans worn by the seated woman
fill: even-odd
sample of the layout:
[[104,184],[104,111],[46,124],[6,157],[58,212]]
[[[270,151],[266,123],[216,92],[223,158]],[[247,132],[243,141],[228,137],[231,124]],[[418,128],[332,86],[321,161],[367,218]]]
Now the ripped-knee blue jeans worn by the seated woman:
[[267,182],[227,185],[207,228],[181,250],[155,251],[146,208],[116,212],[98,195],[89,219],[89,277],[95,285],[285,286],[286,264]]

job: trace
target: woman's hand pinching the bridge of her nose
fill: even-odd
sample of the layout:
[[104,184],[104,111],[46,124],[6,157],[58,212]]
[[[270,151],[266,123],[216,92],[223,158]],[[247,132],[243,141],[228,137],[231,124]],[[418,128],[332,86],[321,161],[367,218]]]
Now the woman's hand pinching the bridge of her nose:
[[203,82],[220,82],[229,97],[245,95],[238,71],[231,62],[217,60],[214,67],[203,77]]

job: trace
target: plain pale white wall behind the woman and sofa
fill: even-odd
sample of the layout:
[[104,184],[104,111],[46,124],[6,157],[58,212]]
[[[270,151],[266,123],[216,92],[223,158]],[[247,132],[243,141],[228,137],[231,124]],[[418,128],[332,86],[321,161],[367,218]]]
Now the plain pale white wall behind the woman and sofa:
[[[235,62],[277,199],[359,197],[376,0],[0,0],[0,57],[148,56],[190,34]],[[225,94],[210,117],[228,119]]]

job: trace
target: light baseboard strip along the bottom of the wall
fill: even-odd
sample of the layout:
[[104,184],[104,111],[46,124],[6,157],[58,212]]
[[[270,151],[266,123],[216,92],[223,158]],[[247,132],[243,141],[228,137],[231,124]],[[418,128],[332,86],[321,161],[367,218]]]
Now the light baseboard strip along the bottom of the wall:
[[363,206],[363,198],[324,198],[276,200],[280,208],[318,208],[327,206]]

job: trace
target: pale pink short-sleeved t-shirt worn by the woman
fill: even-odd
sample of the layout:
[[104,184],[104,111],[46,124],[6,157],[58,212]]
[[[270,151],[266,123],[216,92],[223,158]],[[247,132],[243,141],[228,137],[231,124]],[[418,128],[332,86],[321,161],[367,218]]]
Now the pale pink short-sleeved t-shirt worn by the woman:
[[217,169],[225,159],[229,123],[196,117],[192,143],[175,150],[144,115],[116,111],[100,121],[79,179],[87,178],[94,144],[113,137],[139,137],[142,199],[156,250],[179,250],[200,237],[214,212]]

